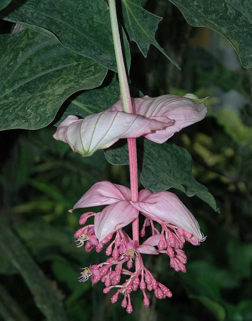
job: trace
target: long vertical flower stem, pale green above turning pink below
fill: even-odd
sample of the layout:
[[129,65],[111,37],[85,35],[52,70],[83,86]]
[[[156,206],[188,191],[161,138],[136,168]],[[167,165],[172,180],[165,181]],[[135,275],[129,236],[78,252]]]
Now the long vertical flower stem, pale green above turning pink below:
[[[115,0],[109,0],[109,13],[110,21],[113,35],[113,43],[115,50],[116,65],[118,71],[120,92],[122,95],[122,107],[125,113],[133,114],[130,90],[127,80],[127,75],[125,71],[123,55],[122,55],[122,46],[118,30],[118,22],[116,15],[116,6]],[[133,202],[138,201],[138,171],[137,171],[137,147],[136,139],[128,138],[128,147],[129,147],[129,161],[130,161],[130,189],[131,189],[131,200]],[[135,246],[139,246],[139,219],[136,218],[132,222],[132,234],[133,240],[135,241]],[[142,259],[139,254],[138,259],[136,259],[136,271],[140,268]]]

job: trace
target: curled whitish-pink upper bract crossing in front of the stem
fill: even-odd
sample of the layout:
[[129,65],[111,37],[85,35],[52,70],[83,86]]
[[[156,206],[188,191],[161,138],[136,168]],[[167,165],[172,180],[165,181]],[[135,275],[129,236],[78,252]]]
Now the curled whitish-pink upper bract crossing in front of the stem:
[[[163,122],[164,119],[166,122]],[[173,123],[167,117],[161,117],[160,120],[121,111],[103,111],[79,120],[75,116],[68,116],[53,137],[68,143],[74,152],[91,156],[98,149],[110,147],[120,138],[136,138]]]

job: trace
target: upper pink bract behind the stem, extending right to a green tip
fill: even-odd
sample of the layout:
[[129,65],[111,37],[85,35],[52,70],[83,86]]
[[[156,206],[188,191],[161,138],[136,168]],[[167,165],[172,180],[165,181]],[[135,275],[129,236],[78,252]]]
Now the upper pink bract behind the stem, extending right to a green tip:
[[[132,98],[131,101],[133,112],[137,115],[149,119],[160,119],[160,121],[164,121],[164,117],[174,120],[172,126],[143,135],[155,143],[164,143],[182,128],[202,120],[207,113],[206,99],[200,100],[193,94],[186,94],[183,97],[162,95],[151,98],[144,96],[143,98]],[[117,101],[108,110],[122,110],[122,100]]]

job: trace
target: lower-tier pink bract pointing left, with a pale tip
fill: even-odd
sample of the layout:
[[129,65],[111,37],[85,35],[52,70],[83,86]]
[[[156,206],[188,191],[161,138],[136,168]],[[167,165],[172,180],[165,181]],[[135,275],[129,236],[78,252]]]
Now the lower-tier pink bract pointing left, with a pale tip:
[[72,213],[76,208],[108,205],[126,199],[131,199],[131,191],[128,187],[102,181],[89,188],[69,212]]

